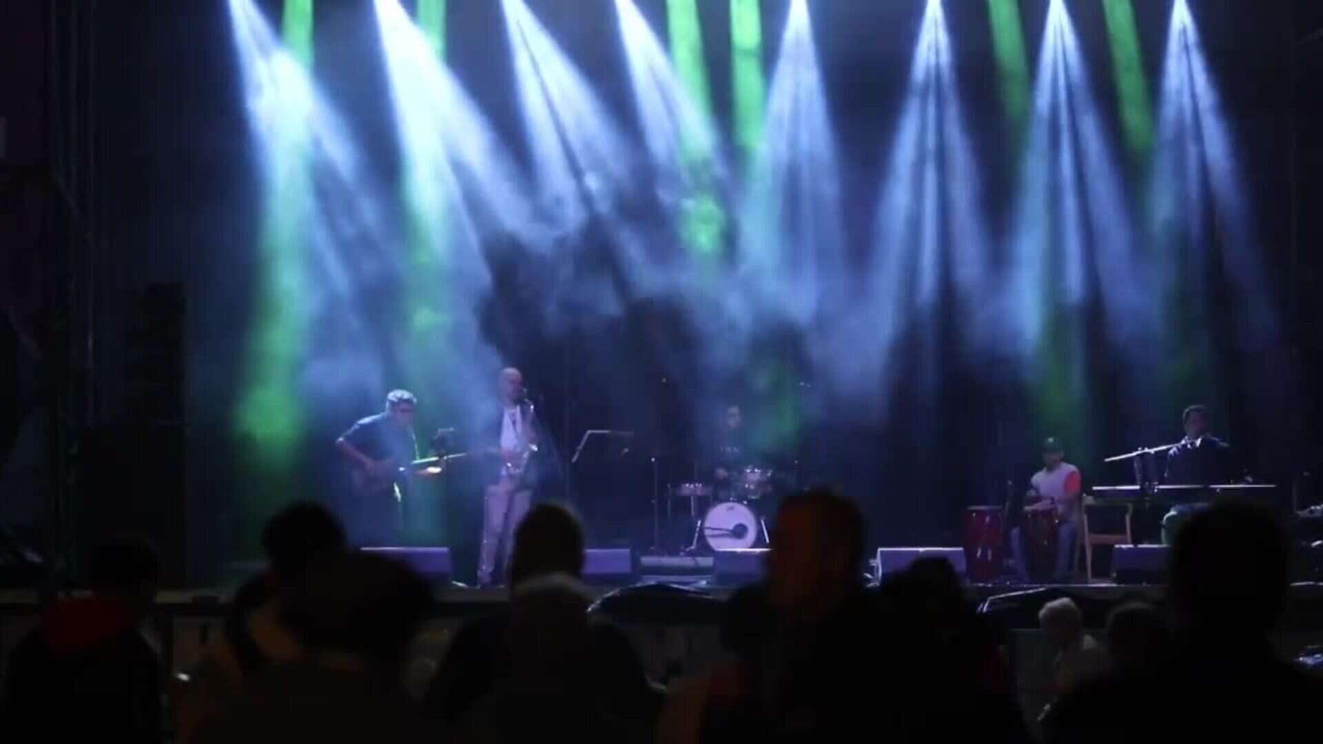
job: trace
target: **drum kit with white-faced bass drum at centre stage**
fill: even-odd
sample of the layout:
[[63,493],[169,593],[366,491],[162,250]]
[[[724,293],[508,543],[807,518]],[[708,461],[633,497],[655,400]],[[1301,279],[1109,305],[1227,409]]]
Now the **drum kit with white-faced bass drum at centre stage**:
[[[775,471],[745,467],[732,473],[729,483],[680,483],[671,487],[671,499],[689,502],[693,539],[688,549],[729,551],[769,543],[767,523]],[[701,516],[700,516],[701,514]]]

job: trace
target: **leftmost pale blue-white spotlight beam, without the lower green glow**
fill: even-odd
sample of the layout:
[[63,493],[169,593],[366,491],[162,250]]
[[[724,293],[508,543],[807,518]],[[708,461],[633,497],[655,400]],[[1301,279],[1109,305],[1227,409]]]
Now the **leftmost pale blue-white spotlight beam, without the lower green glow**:
[[392,269],[381,189],[360,167],[339,114],[253,0],[229,0],[229,9],[263,188],[279,212],[279,301],[304,331],[327,322],[336,328],[288,360],[287,379],[310,400],[376,396],[385,373],[356,301]]

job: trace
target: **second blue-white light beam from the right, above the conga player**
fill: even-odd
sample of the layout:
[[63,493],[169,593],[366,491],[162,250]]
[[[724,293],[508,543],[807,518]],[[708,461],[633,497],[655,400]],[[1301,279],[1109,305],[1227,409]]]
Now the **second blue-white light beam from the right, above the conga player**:
[[1101,306],[1121,353],[1142,353],[1151,339],[1151,306],[1113,152],[1065,3],[1050,0],[1012,228],[1008,316],[1040,426],[1085,457],[1091,364],[1082,339],[1090,308]]

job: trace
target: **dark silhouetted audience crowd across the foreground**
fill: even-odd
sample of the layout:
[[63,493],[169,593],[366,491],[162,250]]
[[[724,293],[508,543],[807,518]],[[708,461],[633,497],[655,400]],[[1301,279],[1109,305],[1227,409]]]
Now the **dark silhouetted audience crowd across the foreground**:
[[[269,571],[235,594],[222,635],[175,690],[175,740],[1029,740],[1004,643],[951,564],[922,559],[865,586],[863,518],[828,488],[782,502],[766,580],[729,597],[721,657],[669,694],[648,680],[628,635],[591,612],[583,531],[565,507],[541,504],[520,524],[509,601],[454,635],[421,704],[402,684],[433,602],[417,573],[349,552],[340,523],[310,503],[278,514],[263,548]],[[1323,683],[1270,643],[1287,552],[1266,511],[1221,503],[1177,537],[1166,618],[1121,605],[1103,647],[1072,600],[1044,605],[1057,695],[1040,719],[1044,739],[1308,731]],[[160,661],[139,633],[159,575],[140,541],[98,549],[93,596],[52,608],[9,658],[7,735],[164,739]]]

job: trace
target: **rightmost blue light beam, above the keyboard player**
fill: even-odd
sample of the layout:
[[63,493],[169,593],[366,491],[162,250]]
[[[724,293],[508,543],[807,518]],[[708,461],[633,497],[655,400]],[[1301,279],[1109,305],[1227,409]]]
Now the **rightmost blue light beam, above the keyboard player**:
[[[1278,347],[1279,328],[1240,152],[1185,0],[1172,5],[1162,74],[1150,259],[1164,294],[1164,381],[1183,400],[1216,400],[1222,385],[1207,360],[1217,347],[1262,353]],[[1217,306],[1201,290],[1215,266],[1230,290]],[[1248,388],[1285,389],[1281,380]]]

